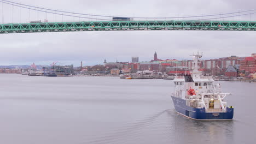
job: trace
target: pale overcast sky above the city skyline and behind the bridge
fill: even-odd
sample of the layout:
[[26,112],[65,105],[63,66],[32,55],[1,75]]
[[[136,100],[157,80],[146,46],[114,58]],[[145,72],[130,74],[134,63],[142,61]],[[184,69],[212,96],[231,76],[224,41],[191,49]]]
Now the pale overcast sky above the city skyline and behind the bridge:
[[[14,1],[14,0],[10,0]],[[173,17],[222,14],[255,9],[254,1],[118,1],[118,0],[19,0],[14,1],[44,8],[75,13],[135,17]],[[82,19],[38,13],[20,9],[0,1],[0,23],[29,22],[31,20],[79,21]],[[12,11],[14,17],[12,16]],[[21,12],[21,13],[20,13]],[[255,12],[255,11],[253,11]],[[3,17],[4,16],[4,17]],[[93,17],[94,18],[94,17]],[[85,19],[86,20],[86,19]],[[90,21],[91,19],[89,19]],[[182,20],[182,19],[180,19]],[[253,20],[256,14],[224,20]],[[88,20],[86,20],[88,21]],[[203,58],[231,55],[249,56],[256,53],[256,32],[235,31],[108,31],[0,34],[0,65],[22,65],[35,62],[50,64],[94,65],[107,62],[150,61],[154,52],[160,59],[191,59],[193,52],[203,52]]]

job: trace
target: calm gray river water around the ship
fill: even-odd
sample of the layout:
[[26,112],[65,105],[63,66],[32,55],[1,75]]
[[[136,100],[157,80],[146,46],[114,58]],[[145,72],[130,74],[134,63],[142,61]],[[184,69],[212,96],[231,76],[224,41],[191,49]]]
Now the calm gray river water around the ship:
[[255,143],[256,83],[220,82],[232,121],[174,111],[171,80],[0,75],[0,143]]

